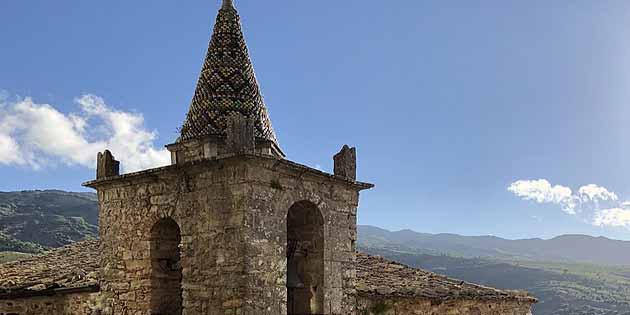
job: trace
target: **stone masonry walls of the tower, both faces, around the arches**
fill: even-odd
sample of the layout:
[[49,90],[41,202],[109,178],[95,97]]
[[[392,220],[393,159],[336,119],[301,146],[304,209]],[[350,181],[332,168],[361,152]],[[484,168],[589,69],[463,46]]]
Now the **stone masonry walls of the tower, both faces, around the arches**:
[[324,217],[324,314],[354,310],[358,193],[286,162],[233,157],[157,169],[98,186],[103,314],[150,315],[150,231],[181,229],[183,315],[286,314],[286,214]]

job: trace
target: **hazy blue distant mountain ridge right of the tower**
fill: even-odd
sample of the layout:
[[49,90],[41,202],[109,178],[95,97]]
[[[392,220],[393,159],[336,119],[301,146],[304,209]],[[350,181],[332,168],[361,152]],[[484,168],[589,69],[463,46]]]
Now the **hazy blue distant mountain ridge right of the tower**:
[[368,225],[358,226],[358,233],[359,247],[363,248],[388,248],[401,252],[466,258],[630,265],[630,242],[603,236],[571,234],[549,240],[508,240],[496,236],[428,234],[412,230],[392,232]]

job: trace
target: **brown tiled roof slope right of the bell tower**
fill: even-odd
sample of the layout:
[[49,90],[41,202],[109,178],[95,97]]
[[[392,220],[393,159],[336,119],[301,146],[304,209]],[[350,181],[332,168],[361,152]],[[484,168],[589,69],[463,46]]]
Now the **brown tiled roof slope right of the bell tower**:
[[357,255],[357,291],[360,295],[367,296],[436,301],[536,301],[526,292],[484,287],[363,253]]

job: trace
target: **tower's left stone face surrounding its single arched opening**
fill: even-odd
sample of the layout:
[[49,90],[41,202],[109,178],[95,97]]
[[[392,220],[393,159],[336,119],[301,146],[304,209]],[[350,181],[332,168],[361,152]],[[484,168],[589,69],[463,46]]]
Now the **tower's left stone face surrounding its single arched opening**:
[[243,207],[233,191],[243,167],[204,163],[99,189],[104,314],[151,313],[150,231],[162,218],[181,229],[183,315],[230,314],[246,288]]

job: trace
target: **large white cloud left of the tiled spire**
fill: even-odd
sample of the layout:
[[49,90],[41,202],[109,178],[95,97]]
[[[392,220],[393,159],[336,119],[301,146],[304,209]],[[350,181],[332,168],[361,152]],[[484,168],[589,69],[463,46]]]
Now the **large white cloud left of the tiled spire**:
[[157,134],[144,127],[141,114],[115,110],[90,94],[75,101],[81,111],[70,114],[31,98],[0,102],[0,164],[94,168],[96,153],[105,149],[125,172],[169,163],[168,151],[154,147]]

